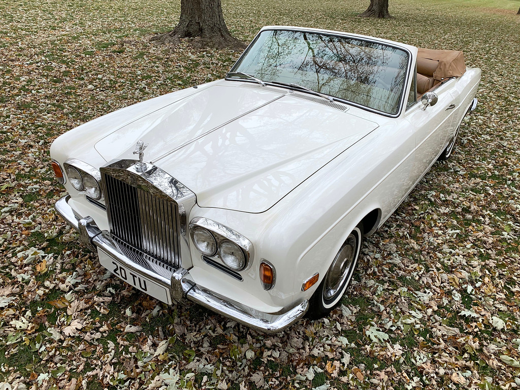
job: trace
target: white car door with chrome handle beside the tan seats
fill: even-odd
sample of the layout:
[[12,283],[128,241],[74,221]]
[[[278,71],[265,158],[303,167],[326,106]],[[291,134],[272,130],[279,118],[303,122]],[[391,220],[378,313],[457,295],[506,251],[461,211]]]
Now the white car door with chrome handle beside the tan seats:
[[415,133],[414,162],[410,173],[412,183],[421,179],[446,147],[447,137],[452,132],[451,115],[454,110],[450,107],[453,104],[450,90],[454,82],[448,80],[432,91],[438,97],[434,106],[423,110],[424,105],[419,100],[405,114]]

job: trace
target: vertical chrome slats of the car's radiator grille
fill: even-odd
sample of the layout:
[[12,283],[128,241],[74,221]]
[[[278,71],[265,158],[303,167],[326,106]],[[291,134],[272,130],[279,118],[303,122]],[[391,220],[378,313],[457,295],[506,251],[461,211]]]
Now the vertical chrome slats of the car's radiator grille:
[[110,232],[139,251],[180,267],[178,205],[102,174]]

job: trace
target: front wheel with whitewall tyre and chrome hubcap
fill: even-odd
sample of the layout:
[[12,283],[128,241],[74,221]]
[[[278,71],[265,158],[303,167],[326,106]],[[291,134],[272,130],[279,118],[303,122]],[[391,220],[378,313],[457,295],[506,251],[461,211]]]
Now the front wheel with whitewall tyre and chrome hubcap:
[[354,275],[362,237],[363,225],[359,224],[348,235],[320,285],[310,298],[307,317],[311,319],[325,317],[340,303],[341,297]]

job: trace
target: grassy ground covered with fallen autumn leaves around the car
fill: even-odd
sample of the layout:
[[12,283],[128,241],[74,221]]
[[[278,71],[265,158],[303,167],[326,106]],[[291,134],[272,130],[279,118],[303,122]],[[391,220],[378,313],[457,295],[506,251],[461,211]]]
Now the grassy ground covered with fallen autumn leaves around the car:
[[178,2],[0,0],[0,389],[520,387],[518,2],[391,0],[394,19],[357,18],[367,4],[224,1],[244,41],[320,27],[461,49],[483,71],[453,158],[367,240],[342,306],[267,336],[133,290],[53,210],[54,138],[238,54],[151,44]]

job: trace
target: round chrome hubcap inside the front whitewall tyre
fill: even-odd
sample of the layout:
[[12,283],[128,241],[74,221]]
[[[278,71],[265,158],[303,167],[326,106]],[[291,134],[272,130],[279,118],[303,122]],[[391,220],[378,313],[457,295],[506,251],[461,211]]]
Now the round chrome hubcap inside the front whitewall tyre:
[[352,274],[355,266],[356,238],[350,235],[340,252],[334,258],[325,277],[323,297],[330,300],[343,287],[345,280]]

